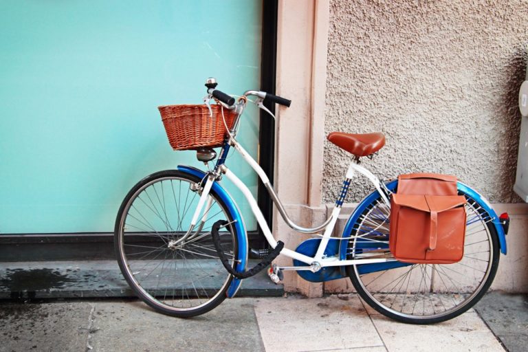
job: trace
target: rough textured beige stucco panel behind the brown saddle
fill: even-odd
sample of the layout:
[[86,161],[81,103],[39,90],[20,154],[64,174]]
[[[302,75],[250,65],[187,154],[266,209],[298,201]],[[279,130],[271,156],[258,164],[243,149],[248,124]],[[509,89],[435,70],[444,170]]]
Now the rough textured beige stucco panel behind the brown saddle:
[[[330,22],[327,133],[385,133],[380,155],[362,162],[384,179],[449,173],[490,201],[520,201],[527,1],[331,0]],[[325,142],[323,201],[336,199],[350,159]]]

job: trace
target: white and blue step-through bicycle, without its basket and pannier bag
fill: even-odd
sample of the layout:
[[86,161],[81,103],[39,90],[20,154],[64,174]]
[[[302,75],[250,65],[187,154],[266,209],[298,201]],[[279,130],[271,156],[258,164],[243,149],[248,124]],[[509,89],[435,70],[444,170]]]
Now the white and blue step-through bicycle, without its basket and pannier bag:
[[[217,157],[212,146],[193,148],[206,165],[217,157],[214,168],[203,171],[177,166],[175,170],[145,177],[126,195],[115,221],[115,252],[120,269],[135,294],[147,305],[170,316],[191,317],[210,311],[236,294],[241,278],[235,276],[245,272],[250,248],[241,212],[221,186],[224,177],[247,199],[275,254],[280,252],[293,260],[292,266],[270,268],[274,281],[281,278],[284,270],[294,270],[313,282],[348,276],[361,298],[376,311],[413,324],[442,322],[459,316],[485,294],[496,274],[499,252],[507,252],[505,234],[509,218],[507,214],[499,218],[478,192],[458,183],[459,195],[467,199],[462,261],[446,265],[396,261],[388,250],[388,223],[389,199],[397,188],[397,180],[382,182],[360,165],[360,157],[371,156],[382,148],[384,136],[345,134],[353,143],[336,144],[347,149],[353,159],[336,206],[325,223],[303,228],[289,219],[262,168],[235,139],[246,104],[252,101],[250,97],[256,98],[253,102],[268,113],[263,100],[286,107],[290,101],[255,90],[245,91],[235,101],[216,89],[214,78],[208,79],[206,87],[203,106],[212,115],[209,102],[216,100],[215,111],[225,126],[222,139],[215,142],[221,149]],[[229,115],[228,122],[225,115]],[[283,220],[297,232],[314,234],[314,238],[303,241],[296,250],[282,248],[248,187],[226,166],[232,148],[259,176]],[[375,190],[358,203],[342,236],[333,237],[333,228],[355,175],[367,177]],[[217,241],[212,241],[213,234]],[[264,265],[272,256],[267,259]]]

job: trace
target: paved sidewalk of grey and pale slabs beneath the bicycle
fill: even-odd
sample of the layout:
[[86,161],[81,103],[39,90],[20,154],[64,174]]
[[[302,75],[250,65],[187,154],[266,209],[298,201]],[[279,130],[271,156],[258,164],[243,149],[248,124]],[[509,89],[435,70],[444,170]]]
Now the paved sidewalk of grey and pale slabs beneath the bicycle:
[[[135,300],[4,301],[0,351],[505,351],[478,309],[417,326],[375,314],[355,294],[234,298],[190,319]],[[518,323],[510,332],[526,329]]]

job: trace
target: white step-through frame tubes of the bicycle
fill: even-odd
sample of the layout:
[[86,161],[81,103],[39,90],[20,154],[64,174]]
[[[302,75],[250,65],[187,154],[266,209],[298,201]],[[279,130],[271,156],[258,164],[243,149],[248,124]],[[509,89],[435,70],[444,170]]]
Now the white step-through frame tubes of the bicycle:
[[[289,250],[288,248],[283,248],[281,250],[281,254],[288,256],[289,258],[296,259],[298,261],[301,261],[303,263],[306,263],[307,267],[288,267],[290,270],[312,270],[312,271],[318,271],[321,267],[333,267],[333,266],[342,266],[342,265],[357,265],[357,264],[371,264],[371,263],[385,263],[387,261],[393,261],[394,259],[353,259],[353,260],[340,260],[337,256],[331,256],[331,257],[325,257],[325,249],[327,248],[327,244],[329,243],[331,237],[331,234],[333,232],[333,229],[336,225],[336,222],[338,220],[339,214],[341,212],[341,206],[336,204],[336,208],[333,209],[331,217],[325,221],[322,225],[318,226],[317,228],[307,229],[307,228],[301,228],[300,226],[293,223],[288,217],[287,214],[281,204],[281,201],[276,196],[276,193],[274,192],[274,189],[272,185],[270,184],[270,179],[267,178],[267,175],[265,174],[264,170],[259,166],[259,164],[251,157],[251,155],[245,151],[245,149],[238,143],[234,138],[230,138],[230,145],[234,147],[236,151],[240,153],[240,155],[243,157],[245,162],[247,162],[251,168],[259,175],[259,178],[263,182],[264,186],[267,188],[267,190],[270,192],[270,195],[272,196],[272,199],[275,203],[275,205],[278,207],[278,210],[281,212],[281,215],[283,216],[283,219],[286,221],[286,223],[293,228],[294,230],[297,230],[298,232],[304,232],[304,233],[316,233],[320,230],[325,230],[324,234],[322,235],[322,239],[320,241],[320,244],[318,246],[318,250],[316,252],[316,255],[311,256],[305,256],[304,254],[300,254],[298,252],[295,252],[294,250]],[[250,204],[250,208],[256,217],[256,221],[259,223],[262,232],[267,240],[268,243],[272,246],[272,248],[275,248],[277,245],[277,241],[274,239],[274,236],[272,234],[272,231],[270,230],[269,226],[267,225],[266,220],[264,219],[264,216],[259,208],[259,206],[256,203],[256,200],[254,199],[251,191],[249,190],[248,186],[245,186],[243,181],[239,179],[225,164],[222,164],[219,166],[219,170],[221,173],[225,175],[232,183],[241,190],[244,197],[248,200],[248,203]],[[354,162],[351,162],[346,177],[347,179],[353,179],[355,176],[355,173],[360,173],[364,175],[371,183],[375,186],[377,192],[380,193],[384,203],[386,203],[388,206],[390,206],[390,202],[388,201],[388,198],[385,194],[385,192],[382,190],[382,184],[380,180],[373,175],[369,170],[364,168],[363,166],[360,166],[358,164],[355,164]],[[201,196],[198,202],[198,206],[195,210],[195,213],[193,214],[190,228],[194,228],[197,220],[200,217],[200,214],[202,214],[203,206],[206,205],[206,212],[204,212],[204,217],[206,216],[208,208],[210,208],[210,197],[209,192],[212,187],[212,183],[216,181],[216,177],[208,177],[206,184],[203,186],[203,190],[201,192]],[[346,190],[345,190],[346,192]],[[205,221],[205,219],[202,219],[201,221]],[[358,236],[360,238],[361,236]],[[340,239],[339,237],[334,237],[334,239]],[[377,254],[379,256],[379,254]],[[366,256],[364,254],[364,256]],[[316,268],[316,269],[314,269]]]

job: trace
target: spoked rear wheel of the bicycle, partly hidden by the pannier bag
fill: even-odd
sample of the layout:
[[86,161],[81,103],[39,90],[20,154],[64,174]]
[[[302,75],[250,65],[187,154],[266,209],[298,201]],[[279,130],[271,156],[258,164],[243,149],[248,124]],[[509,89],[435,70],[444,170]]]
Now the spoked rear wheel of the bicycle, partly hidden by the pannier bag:
[[[397,261],[351,265],[347,273],[358,294],[384,316],[411,324],[431,324],[452,319],[470,309],[491,285],[499,259],[492,218],[469,195],[463,259],[454,264],[408,264]],[[390,256],[390,208],[379,195],[353,225],[347,258]]]

